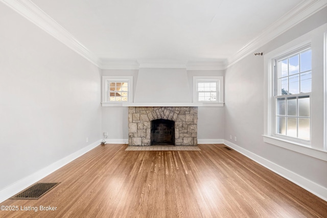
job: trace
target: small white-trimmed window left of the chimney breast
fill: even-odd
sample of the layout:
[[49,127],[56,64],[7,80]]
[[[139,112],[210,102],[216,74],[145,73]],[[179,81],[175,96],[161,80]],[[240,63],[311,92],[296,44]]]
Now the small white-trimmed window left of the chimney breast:
[[102,77],[102,103],[132,102],[132,77]]

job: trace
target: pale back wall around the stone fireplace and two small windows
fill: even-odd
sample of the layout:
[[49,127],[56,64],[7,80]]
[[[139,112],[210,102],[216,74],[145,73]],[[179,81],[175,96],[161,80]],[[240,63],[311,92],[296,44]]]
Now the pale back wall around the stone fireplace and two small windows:
[[[183,69],[185,70],[185,69]],[[154,72],[151,75],[151,72]],[[160,74],[158,74],[160,72]],[[177,74],[176,74],[177,72]],[[192,102],[193,99],[193,76],[223,76],[223,70],[188,70],[180,71],[179,69],[158,68],[148,69],[141,72],[139,70],[102,70],[103,76],[133,76],[134,95],[138,94],[138,102],[157,103],[157,102],[176,102],[176,99],[170,100],[170,97],[179,92],[178,84],[170,83],[170,81],[179,81],[183,84],[181,88],[181,96],[183,99],[178,99],[180,102]],[[161,78],[161,79],[160,79]],[[165,79],[164,79],[165,78]],[[144,87],[149,84],[157,84],[161,82],[159,90],[162,95],[165,90],[169,91],[168,95],[161,96],[159,100],[154,97],[159,94],[152,89],[152,93],[144,93]],[[165,83],[163,83],[164,81]],[[162,86],[165,84],[165,86]],[[174,88],[172,87],[174,86]],[[136,91],[135,91],[136,90]],[[138,90],[138,93],[137,93]],[[142,93],[142,94],[141,94]],[[124,143],[128,139],[128,108],[127,107],[102,107],[102,132],[108,132],[108,142]],[[198,107],[198,140],[207,142],[217,142],[215,139],[223,139],[224,137],[224,108],[223,107]],[[213,140],[212,140],[213,139]]]

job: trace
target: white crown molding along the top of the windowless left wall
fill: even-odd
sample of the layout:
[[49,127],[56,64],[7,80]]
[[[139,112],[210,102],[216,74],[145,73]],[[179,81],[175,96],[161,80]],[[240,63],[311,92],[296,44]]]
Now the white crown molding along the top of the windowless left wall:
[[99,67],[99,58],[30,0],[0,0],[70,49]]

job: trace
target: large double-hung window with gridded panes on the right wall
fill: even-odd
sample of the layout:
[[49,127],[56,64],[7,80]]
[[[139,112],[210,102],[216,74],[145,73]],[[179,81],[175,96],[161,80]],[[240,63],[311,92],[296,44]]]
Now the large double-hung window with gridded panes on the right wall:
[[276,135],[311,139],[311,49],[275,59],[274,129]]

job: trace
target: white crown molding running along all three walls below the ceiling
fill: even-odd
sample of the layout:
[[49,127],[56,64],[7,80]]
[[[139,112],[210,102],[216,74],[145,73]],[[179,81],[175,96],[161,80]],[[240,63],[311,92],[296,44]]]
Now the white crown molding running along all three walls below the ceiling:
[[86,60],[95,64],[101,69],[138,69],[139,67],[164,67],[164,68],[186,68],[188,70],[197,69],[226,69],[231,65],[242,60],[247,55],[258,50],[261,46],[268,43],[277,36],[305,20],[312,14],[318,12],[327,6],[327,0],[304,0],[293,8],[289,13],[274,22],[265,31],[249,41],[235,55],[230,57],[226,63],[213,62],[170,62],[170,61],[112,61],[100,59],[94,53],[89,51],[72,34],[66,31],[48,14],[42,11],[30,0],[0,0],[20,15],[24,16],[36,26],[49,33],[57,40],[68,46],[70,49],[84,57]]

